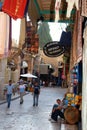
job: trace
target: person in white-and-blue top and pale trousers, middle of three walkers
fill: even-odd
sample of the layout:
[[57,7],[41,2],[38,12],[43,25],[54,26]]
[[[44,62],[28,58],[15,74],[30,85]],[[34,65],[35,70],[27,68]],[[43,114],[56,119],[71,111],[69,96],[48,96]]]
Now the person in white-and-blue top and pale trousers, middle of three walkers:
[[18,93],[20,94],[20,104],[23,104],[23,96],[25,94],[25,85],[23,83],[23,80],[20,81],[19,86],[18,86]]

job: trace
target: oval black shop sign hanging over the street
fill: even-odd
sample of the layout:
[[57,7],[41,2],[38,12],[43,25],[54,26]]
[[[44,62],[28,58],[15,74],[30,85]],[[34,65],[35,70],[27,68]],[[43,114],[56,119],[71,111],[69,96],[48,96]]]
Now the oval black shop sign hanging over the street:
[[59,45],[57,41],[49,42],[43,47],[43,52],[48,57],[58,57],[64,53],[64,46]]

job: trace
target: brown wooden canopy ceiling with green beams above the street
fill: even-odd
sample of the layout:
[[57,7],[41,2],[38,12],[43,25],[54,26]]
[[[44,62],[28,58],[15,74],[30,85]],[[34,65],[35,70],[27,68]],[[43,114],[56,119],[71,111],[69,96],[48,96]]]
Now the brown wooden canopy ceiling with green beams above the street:
[[[73,22],[73,16],[71,18],[66,18],[67,3],[65,0],[61,0],[60,6],[60,20],[59,22]],[[28,14],[33,22],[36,24],[37,20],[42,16],[44,21],[51,22],[55,20],[55,0],[30,0],[28,7]],[[72,15],[75,14],[75,9],[71,12]]]

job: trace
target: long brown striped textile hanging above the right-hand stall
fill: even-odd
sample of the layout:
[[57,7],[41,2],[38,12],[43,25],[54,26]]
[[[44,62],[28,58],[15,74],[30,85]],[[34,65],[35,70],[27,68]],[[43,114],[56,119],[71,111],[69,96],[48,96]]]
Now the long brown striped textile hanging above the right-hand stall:
[[70,69],[82,60],[82,17],[76,11],[73,38],[71,44]]

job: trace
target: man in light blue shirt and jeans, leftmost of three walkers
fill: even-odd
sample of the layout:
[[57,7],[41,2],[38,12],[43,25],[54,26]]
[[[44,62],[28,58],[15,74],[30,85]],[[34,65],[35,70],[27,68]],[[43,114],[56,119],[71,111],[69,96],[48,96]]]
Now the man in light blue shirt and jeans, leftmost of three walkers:
[[14,86],[12,84],[12,80],[9,80],[9,84],[5,86],[4,89],[4,94],[6,94],[6,100],[8,103],[7,108],[10,108],[12,93],[14,93]]

